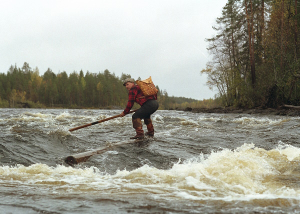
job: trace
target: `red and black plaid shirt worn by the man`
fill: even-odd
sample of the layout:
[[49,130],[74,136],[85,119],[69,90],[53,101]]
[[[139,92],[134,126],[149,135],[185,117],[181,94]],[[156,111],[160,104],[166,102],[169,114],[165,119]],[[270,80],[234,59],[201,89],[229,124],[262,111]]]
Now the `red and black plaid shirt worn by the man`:
[[139,104],[140,106],[143,105],[143,103],[145,103],[145,101],[149,100],[149,99],[157,99],[157,95],[153,95],[153,96],[147,96],[144,98],[140,98],[138,99],[138,97],[143,96],[144,94],[142,93],[141,89],[139,88],[139,86],[137,84],[133,85],[131,87],[131,89],[129,90],[129,94],[128,94],[128,102],[126,105],[125,110],[123,111],[124,114],[127,114],[130,109],[132,108],[134,102],[136,102],[137,104]]

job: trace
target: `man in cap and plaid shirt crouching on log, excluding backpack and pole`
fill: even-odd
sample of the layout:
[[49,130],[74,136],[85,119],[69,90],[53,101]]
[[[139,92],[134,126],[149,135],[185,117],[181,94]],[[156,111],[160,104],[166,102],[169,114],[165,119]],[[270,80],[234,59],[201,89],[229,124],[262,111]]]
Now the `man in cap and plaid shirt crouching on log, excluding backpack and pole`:
[[[132,108],[134,102],[139,104],[141,107],[135,111],[132,115],[132,125],[135,128],[136,135],[130,137],[130,139],[142,138],[144,131],[142,129],[141,119],[144,120],[147,126],[146,135],[154,135],[154,127],[150,118],[151,114],[158,109],[157,94],[151,96],[145,96],[137,84],[134,84],[132,78],[125,79],[123,85],[129,91],[128,102],[124,111],[120,114],[121,117],[125,116]],[[155,88],[156,89],[156,88]]]

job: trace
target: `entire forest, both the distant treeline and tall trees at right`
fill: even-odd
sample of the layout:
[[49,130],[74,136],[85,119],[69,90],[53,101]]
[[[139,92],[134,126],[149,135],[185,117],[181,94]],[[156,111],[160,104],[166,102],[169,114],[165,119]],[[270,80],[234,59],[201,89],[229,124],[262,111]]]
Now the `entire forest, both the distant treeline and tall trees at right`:
[[[159,109],[300,105],[299,7],[297,0],[228,0],[206,38],[210,59],[199,68],[218,91],[214,99],[168,96],[156,85]],[[39,75],[26,62],[11,65],[0,73],[0,107],[124,107],[128,77],[107,69]]]

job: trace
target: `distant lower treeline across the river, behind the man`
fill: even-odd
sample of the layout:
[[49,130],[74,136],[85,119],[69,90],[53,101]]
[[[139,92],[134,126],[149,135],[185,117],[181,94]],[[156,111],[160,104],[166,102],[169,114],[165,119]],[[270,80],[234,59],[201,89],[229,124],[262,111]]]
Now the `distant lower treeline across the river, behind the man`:
[[[24,62],[21,68],[11,65],[6,74],[0,73],[0,107],[125,107],[128,92],[122,83],[126,78],[131,76],[122,73],[118,77],[107,69],[98,73],[86,71],[85,74],[82,70],[79,73],[73,71],[69,75],[63,71],[56,75],[48,68],[43,75],[39,75],[37,67],[32,69]],[[199,102],[190,98],[169,97],[165,90],[156,87],[160,109]]]

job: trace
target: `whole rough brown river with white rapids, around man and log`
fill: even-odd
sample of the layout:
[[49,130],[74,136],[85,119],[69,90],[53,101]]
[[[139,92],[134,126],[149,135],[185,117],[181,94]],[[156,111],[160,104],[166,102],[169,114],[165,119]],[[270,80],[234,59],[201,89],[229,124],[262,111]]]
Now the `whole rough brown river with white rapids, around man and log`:
[[[300,117],[0,109],[0,213],[298,213]],[[144,126],[145,127],[145,126]],[[70,166],[70,154],[109,149]]]

